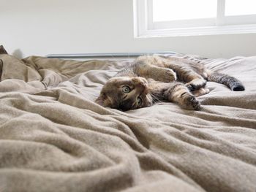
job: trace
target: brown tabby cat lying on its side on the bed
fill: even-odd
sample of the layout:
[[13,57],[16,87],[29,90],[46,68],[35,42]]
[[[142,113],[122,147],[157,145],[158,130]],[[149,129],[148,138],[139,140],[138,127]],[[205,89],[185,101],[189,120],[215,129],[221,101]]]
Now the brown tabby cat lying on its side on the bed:
[[209,92],[207,81],[222,83],[232,91],[244,91],[244,85],[235,77],[211,71],[200,62],[143,55],[111,77],[96,102],[122,111],[150,107],[157,101],[175,102],[186,110],[200,110],[196,96]]

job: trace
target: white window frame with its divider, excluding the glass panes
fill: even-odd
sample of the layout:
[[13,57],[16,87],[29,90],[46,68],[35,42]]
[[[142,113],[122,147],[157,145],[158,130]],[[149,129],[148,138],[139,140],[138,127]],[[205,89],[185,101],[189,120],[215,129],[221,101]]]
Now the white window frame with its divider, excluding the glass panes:
[[153,22],[153,0],[134,0],[135,37],[176,37],[256,33],[256,15],[225,16],[217,0],[217,18]]

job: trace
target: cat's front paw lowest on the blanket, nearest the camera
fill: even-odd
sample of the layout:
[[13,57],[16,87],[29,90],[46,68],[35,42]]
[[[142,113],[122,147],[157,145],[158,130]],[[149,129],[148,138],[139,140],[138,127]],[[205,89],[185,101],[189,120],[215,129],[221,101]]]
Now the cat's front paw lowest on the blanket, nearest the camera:
[[186,110],[200,110],[200,101],[189,92],[181,94],[181,107]]

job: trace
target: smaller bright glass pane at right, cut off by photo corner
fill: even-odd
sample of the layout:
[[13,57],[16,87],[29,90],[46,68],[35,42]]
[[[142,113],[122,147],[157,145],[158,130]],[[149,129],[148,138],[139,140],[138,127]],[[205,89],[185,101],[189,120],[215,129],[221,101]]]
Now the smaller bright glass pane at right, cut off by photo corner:
[[256,14],[255,0],[226,0],[225,15],[253,15]]

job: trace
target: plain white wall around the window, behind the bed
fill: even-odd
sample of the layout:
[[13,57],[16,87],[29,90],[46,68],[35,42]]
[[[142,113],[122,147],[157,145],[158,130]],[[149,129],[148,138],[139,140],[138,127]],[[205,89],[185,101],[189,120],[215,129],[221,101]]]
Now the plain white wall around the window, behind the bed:
[[0,44],[18,57],[172,50],[256,55],[256,34],[134,39],[132,0],[0,0]]

